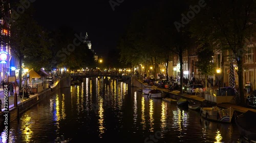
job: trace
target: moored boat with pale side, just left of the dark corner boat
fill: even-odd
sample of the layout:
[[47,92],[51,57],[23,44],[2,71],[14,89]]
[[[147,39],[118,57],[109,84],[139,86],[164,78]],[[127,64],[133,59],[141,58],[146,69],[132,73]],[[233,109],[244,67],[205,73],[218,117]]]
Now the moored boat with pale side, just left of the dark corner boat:
[[230,123],[233,117],[233,109],[231,107],[223,109],[217,106],[201,107],[200,116],[206,120]]

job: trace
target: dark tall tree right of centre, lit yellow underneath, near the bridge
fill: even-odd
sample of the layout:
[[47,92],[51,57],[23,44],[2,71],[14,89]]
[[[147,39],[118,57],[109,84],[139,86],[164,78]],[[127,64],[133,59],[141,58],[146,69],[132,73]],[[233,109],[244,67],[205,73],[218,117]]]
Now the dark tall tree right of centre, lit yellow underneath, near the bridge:
[[[132,16],[130,25],[126,33],[119,39],[117,48],[120,51],[120,62],[125,65],[144,65],[149,69],[152,65],[152,55],[154,51],[150,49],[150,44],[146,42],[146,22],[148,19],[148,8],[136,12]],[[148,75],[148,70],[146,70]]]

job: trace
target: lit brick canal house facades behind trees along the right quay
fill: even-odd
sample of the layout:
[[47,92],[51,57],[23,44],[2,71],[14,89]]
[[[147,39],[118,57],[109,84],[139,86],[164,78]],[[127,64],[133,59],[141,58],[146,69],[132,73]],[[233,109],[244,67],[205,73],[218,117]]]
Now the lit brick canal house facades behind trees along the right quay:
[[[192,77],[196,79],[203,79],[195,66],[197,61],[197,46],[190,47],[183,53],[183,76],[191,80]],[[244,84],[246,81],[251,82],[252,90],[256,90],[256,37],[251,39],[249,44],[246,45],[245,54],[243,58],[244,65]],[[254,55],[254,56],[253,56]],[[221,87],[229,85],[229,71],[232,52],[231,51],[216,51],[215,55],[212,57],[212,62],[217,64],[217,69],[221,69],[221,72],[214,75],[208,75],[208,78],[213,81],[214,85],[217,85],[217,81],[221,79]],[[238,87],[238,74],[237,74],[237,63],[233,61],[234,71],[235,71],[235,82],[236,87]],[[207,66],[207,65],[206,65]],[[157,73],[161,73],[161,69],[165,69],[165,64],[162,63],[157,69]],[[173,75],[174,77],[180,77],[180,60],[178,55],[173,56],[172,61],[168,62],[168,75]]]

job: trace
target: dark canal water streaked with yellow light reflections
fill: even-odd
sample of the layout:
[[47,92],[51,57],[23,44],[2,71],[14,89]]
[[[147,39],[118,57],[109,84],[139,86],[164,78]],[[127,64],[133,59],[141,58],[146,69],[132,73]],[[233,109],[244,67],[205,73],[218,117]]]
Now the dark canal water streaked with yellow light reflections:
[[[239,142],[234,123],[200,118],[176,103],[150,99],[109,78],[86,78],[62,88],[2,130],[1,142]],[[7,141],[8,140],[8,141]]]

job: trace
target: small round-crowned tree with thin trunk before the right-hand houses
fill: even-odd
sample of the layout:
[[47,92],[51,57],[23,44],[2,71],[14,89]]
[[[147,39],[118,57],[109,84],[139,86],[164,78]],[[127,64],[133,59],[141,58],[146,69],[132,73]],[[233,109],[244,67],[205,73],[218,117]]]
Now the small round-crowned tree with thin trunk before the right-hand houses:
[[205,88],[207,89],[207,79],[208,75],[212,75],[215,72],[216,64],[212,61],[214,56],[214,50],[209,46],[209,44],[204,44],[198,48],[195,66],[199,69],[199,72],[205,77]]

